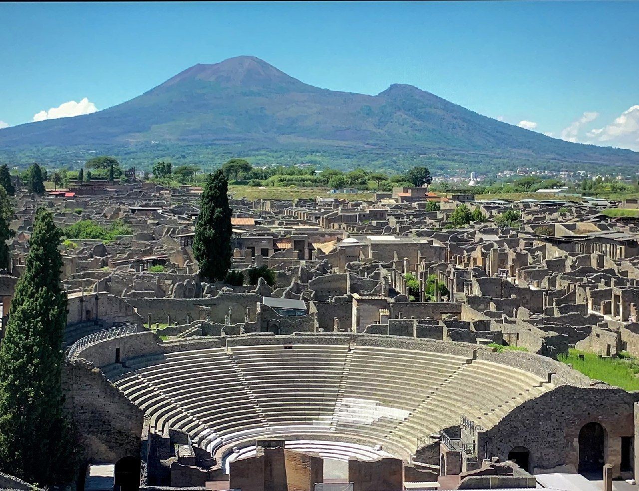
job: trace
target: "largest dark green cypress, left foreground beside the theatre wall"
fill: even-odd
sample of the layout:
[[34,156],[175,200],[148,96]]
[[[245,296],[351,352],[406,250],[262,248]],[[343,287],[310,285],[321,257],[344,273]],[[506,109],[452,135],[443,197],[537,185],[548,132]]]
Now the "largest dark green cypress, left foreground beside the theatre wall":
[[38,209],[0,347],[0,470],[40,485],[70,481],[75,464],[61,389],[59,243],[53,216]]

